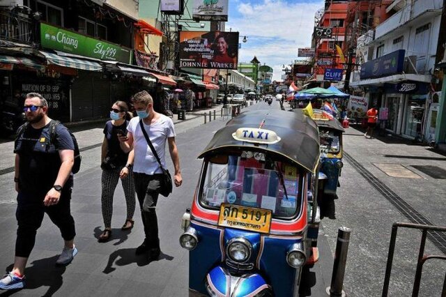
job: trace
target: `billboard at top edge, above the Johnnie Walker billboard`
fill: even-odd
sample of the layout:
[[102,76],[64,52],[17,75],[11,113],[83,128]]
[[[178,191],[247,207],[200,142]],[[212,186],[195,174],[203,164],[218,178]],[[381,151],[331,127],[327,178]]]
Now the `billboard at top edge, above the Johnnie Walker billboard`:
[[194,0],[192,19],[203,21],[228,21],[229,0]]

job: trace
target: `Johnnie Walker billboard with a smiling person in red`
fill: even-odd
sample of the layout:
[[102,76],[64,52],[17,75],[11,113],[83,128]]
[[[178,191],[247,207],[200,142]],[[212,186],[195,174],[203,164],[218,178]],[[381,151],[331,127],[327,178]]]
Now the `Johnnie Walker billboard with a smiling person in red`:
[[180,31],[180,68],[237,69],[238,32]]

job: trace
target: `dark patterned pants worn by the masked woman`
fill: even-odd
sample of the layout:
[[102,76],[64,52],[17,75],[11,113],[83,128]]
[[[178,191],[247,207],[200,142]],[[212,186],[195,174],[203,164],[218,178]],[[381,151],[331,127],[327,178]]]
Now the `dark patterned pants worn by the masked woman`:
[[[118,185],[119,173],[123,167],[118,167],[116,170],[102,170],[102,218],[104,219],[106,228],[112,227],[113,195],[116,185]],[[121,179],[121,183],[127,204],[127,218],[131,219],[133,218],[135,207],[134,181],[131,169],[129,170],[128,176]]]

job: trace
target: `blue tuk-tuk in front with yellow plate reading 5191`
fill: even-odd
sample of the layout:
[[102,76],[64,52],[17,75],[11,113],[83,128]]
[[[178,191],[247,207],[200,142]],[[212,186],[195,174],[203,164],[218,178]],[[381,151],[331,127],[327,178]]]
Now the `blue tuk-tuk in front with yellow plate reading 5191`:
[[180,236],[190,251],[189,296],[298,296],[302,266],[318,258],[307,236],[319,222],[308,195],[319,161],[314,121],[280,110],[243,112],[199,158]]

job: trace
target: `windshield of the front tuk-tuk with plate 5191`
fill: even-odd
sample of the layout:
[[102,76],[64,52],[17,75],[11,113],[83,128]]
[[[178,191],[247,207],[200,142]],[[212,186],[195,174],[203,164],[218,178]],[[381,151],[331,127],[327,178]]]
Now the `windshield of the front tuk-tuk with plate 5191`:
[[[267,208],[273,218],[294,218],[302,200],[298,167],[268,160],[264,153],[215,156],[205,161],[200,202],[205,207],[236,204]],[[285,195],[286,193],[286,195]]]

